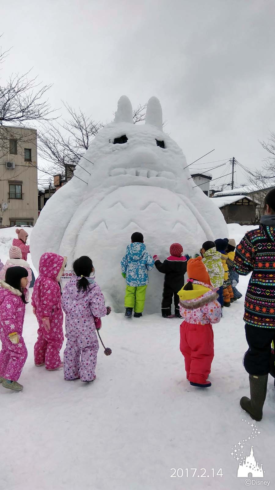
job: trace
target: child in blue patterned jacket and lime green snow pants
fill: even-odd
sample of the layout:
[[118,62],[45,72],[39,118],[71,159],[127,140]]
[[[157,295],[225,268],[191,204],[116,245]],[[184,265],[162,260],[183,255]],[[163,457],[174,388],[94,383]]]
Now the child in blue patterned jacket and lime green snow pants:
[[134,317],[139,318],[144,308],[148,270],[153,269],[154,259],[146,250],[142,233],[133,233],[131,241],[121,261],[121,273],[126,279],[125,317],[132,318],[134,309]]

